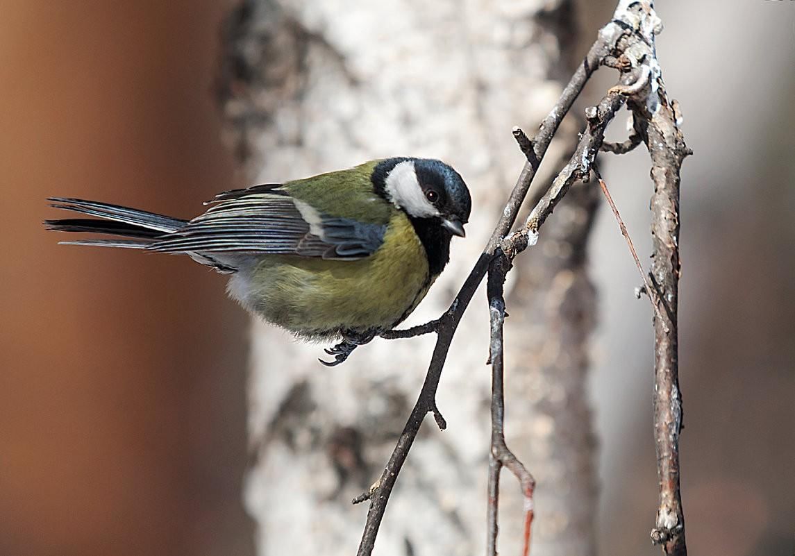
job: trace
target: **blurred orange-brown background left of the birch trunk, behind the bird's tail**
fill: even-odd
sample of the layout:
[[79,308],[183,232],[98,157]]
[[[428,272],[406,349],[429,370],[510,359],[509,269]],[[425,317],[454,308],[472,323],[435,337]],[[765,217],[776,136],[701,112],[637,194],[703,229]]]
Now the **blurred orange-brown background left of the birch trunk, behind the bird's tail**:
[[224,280],[40,224],[48,195],[189,217],[235,185],[212,95],[230,6],[2,2],[3,556],[252,553]]

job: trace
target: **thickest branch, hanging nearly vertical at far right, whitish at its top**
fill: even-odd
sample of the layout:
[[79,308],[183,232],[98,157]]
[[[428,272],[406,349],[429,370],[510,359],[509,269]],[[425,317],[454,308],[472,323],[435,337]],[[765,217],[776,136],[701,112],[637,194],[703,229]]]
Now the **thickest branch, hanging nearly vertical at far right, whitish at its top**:
[[[676,101],[668,98],[657,62],[655,36],[662,25],[651,0],[622,2],[623,21],[637,29],[642,41],[627,45],[631,71],[648,76],[649,86],[631,91],[627,106],[633,113],[634,128],[646,143],[651,158],[654,192],[652,210],[653,262],[650,278],[662,300],[663,314],[654,319],[654,442],[657,451],[657,519],[651,531],[654,544],[669,556],[686,556],[684,511],[679,486],[679,434],[682,428],[682,400],[679,389],[677,307],[680,274],[679,186],[681,165],[692,151],[684,144]],[[619,6],[621,6],[619,4]],[[631,54],[631,56],[630,56]]]

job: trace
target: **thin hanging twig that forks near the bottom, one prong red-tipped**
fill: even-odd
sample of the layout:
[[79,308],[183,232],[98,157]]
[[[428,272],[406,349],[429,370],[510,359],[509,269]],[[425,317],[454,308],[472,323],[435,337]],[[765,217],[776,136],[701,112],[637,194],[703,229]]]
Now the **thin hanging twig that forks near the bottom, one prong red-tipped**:
[[533,491],[536,481],[533,476],[510,451],[505,442],[505,392],[504,392],[504,356],[502,349],[502,330],[505,324],[505,299],[503,286],[510,270],[510,259],[497,250],[489,264],[487,296],[491,315],[491,450],[489,452],[488,479],[488,519],[487,519],[487,556],[497,556],[498,507],[499,507],[499,476],[504,465],[518,479],[525,497],[525,531],[522,537],[522,556],[530,550],[530,531],[533,524]]

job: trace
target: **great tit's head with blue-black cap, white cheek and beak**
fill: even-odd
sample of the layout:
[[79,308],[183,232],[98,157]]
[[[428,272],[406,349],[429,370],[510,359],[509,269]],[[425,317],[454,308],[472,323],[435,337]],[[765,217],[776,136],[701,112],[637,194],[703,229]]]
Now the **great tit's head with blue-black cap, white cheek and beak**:
[[440,160],[389,158],[376,165],[376,191],[410,218],[439,219],[449,234],[463,237],[472,200],[458,172]]

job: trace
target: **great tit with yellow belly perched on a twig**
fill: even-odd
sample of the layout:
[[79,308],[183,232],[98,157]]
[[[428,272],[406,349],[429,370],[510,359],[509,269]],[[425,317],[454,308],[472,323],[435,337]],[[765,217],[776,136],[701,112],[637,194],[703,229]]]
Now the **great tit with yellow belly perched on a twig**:
[[[297,337],[342,338],[336,365],[403,321],[464,236],[471,199],[440,160],[396,157],[305,180],[225,191],[182,220],[107,203],[53,197],[95,218],[45,221],[50,230],[126,239],[62,241],[183,253],[231,274],[227,292]],[[325,363],[325,361],[324,361]]]

